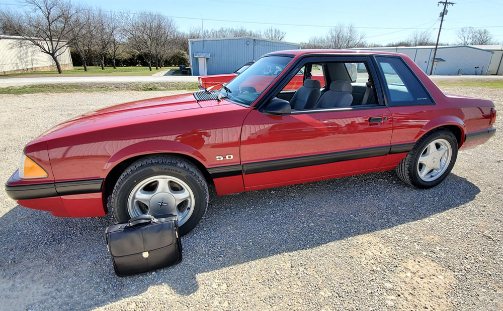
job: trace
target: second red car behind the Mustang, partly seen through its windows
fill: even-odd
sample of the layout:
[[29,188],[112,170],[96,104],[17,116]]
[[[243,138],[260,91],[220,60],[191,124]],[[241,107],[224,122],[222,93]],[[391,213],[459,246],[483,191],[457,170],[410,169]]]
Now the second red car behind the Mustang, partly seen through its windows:
[[[248,69],[249,66],[253,65],[254,62],[248,62],[244,64],[241,68],[238,70],[234,71],[234,73],[224,73],[224,74],[219,74],[219,75],[210,75],[210,76],[202,76],[199,77],[199,88],[201,90],[208,89],[208,90],[218,90],[222,87],[223,83],[228,83],[230,80],[234,79],[238,75],[240,75],[243,71]],[[264,68],[264,72],[269,70],[268,68]],[[275,70],[283,70],[283,68],[276,68]],[[311,77],[311,79],[316,79],[320,81],[321,83],[324,83],[323,80],[323,75],[320,75],[319,73],[314,73]],[[304,81],[304,72],[299,70],[297,75],[290,81],[290,83],[287,84],[287,87],[285,90],[297,90],[299,87],[302,86],[302,83]],[[267,81],[265,81],[267,82]],[[270,81],[269,81],[270,82]]]

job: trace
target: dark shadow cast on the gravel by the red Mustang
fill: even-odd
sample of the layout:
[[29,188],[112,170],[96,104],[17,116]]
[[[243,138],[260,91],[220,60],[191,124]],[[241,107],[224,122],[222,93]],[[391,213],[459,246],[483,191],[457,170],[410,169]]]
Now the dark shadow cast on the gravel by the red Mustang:
[[211,191],[205,217],[182,238],[182,263],[124,278],[115,276],[105,245],[104,230],[114,223],[110,215],[58,218],[17,206],[0,218],[0,302],[29,292],[23,309],[55,301],[63,309],[92,309],[160,284],[189,295],[198,289],[200,273],[427,218],[479,192],[454,174],[433,189],[417,190],[394,172],[227,196]]

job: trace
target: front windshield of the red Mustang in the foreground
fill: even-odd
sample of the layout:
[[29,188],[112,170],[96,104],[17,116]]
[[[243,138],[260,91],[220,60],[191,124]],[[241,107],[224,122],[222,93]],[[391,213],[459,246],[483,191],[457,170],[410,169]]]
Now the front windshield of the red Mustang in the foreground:
[[249,66],[221,89],[222,98],[249,106],[292,60],[286,56],[267,56]]

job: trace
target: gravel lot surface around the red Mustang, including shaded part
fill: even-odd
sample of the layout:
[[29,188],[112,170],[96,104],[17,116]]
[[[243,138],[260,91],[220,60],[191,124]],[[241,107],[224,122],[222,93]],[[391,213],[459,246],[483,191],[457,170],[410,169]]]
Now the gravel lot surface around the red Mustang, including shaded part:
[[[489,98],[503,90],[444,87]],[[25,143],[73,115],[173,92],[0,95],[5,181]],[[502,124],[503,114],[497,123]],[[102,218],[56,218],[0,193],[0,309],[503,309],[500,130],[436,188],[394,172],[210,195],[184,261],[115,276]]]

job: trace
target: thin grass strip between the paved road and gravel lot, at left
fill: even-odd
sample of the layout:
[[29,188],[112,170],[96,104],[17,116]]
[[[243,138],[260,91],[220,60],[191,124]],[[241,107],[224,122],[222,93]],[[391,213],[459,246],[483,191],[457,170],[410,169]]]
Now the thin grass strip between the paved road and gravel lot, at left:
[[34,93],[74,93],[103,91],[179,91],[198,90],[196,82],[154,82],[154,83],[71,83],[71,84],[35,84],[0,88],[0,94]]

